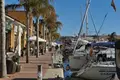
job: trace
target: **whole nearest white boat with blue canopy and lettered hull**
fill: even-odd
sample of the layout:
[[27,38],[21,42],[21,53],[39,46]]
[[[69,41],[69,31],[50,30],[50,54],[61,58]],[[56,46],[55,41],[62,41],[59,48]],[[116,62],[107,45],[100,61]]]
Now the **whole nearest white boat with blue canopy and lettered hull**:
[[110,80],[116,73],[114,43],[98,42],[93,43],[93,46],[97,48],[93,49],[90,61],[77,72],[76,76],[90,80]]

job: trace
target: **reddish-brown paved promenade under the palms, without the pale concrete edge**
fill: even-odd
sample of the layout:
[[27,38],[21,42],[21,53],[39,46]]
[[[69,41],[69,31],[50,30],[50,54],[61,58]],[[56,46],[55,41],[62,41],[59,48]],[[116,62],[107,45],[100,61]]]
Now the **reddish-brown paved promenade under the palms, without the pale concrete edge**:
[[8,78],[6,79],[0,80],[37,80],[37,65],[42,65],[42,74],[44,76],[47,69],[49,69],[49,64],[52,64],[51,53],[52,52],[48,52],[45,55],[40,55],[39,58],[36,58],[35,56],[30,56],[29,63],[26,63],[25,57],[21,58],[21,71],[19,73],[8,75]]

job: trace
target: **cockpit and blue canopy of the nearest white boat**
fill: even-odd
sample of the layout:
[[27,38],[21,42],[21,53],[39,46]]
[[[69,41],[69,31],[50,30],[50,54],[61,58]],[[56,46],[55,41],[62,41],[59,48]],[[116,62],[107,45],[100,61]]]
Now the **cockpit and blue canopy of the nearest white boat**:
[[97,61],[115,61],[115,44],[114,42],[92,43],[93,52]]

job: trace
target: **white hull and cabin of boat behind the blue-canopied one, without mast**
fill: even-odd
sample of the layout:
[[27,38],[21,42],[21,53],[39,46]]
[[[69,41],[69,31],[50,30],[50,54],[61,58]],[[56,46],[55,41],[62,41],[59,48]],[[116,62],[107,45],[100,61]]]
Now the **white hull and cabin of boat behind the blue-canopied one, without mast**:
[[87,63],[87,54],[88,51],[85,49],[85,46],[89,42],[87,40],[79,39],[80,47],[75,50],[74,54],[69,56],[69,64],[71,69],[74,71],[78,71],[82,66]]

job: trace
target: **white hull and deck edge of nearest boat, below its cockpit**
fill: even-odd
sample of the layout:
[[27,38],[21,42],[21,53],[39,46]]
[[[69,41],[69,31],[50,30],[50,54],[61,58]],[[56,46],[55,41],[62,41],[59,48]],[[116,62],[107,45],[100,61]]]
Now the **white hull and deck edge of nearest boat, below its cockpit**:
[[116,73],[114,62],[91,63],[80,70],[77,76],[89,80],[110,80]]

